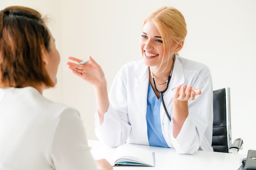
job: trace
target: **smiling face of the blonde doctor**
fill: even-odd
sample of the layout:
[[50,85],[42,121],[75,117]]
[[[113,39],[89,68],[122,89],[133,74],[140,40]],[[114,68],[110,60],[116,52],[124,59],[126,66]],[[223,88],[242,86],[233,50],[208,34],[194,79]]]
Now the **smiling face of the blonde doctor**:
[[[162,63],[167,63],[168,58],[172,56],[167,56],[167,52],[164,54],[163,39],[157,29],[157,26],[151,20],[146,22],[143,26],[139,46],[141,48],[141,54],[144,59],[144,63],[150,67],[158,66],[159,68]],[[171,52],[170,54],[173,54],[173,48],[168,48],[168,50]]]

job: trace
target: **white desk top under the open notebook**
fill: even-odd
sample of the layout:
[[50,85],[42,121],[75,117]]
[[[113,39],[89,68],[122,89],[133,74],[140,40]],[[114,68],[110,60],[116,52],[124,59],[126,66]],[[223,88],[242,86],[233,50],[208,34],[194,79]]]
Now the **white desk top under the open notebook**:
[[[116,148],[109,148],[97,140],[88,140],[94,159],[112,162]],[[131,144],[134,145],[134,144]],[[155,152],[155,167],[115,166],[114,170],[237,170],[246,155],[198,150],[194,155],[177,154],[173,148],[136,145]]]

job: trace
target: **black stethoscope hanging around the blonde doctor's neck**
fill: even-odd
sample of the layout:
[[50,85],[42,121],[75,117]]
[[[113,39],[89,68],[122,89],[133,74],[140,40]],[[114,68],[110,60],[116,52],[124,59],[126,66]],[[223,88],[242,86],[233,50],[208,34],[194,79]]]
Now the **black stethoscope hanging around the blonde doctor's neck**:
[[[173,67],[174,67],[175,58],[176,58],[176,54],[174,53],[174,56],[173,56]],[[153,80],[153,83],[154,83],[154,86],[155,86],[155,91],[156,91],[157,93],[161,94],[161,99],[162,99],[163,107],[164,107],[165,113],[166,113],[168,119],[170,120],[170,122],[171,122],[171,117],[170,117],[170,115],[169,115],[169,113],[168,113],[168,111],[167,111],[167,109],[166,109],[165,104],[164,104],[164,92],[166,92],[166,90],[168,89],[169,83],[170,83],[170,81],[171,81],[171,77],[172,77],[172,74],[173,74],[173,67],[172,67],[172,69],[171,69],[170,75],[168,76],[168,79],[166,80],[167,84],[166,84],[166,87],[165,87],[165,89],[164,89],[163,91],[157,90],[157,86],[156,86],[156,84],[155,84],[154,74],[152,73],[152,71],[151,71],[151,69],[150,69],[151,76],[152,76],[152,80]]]

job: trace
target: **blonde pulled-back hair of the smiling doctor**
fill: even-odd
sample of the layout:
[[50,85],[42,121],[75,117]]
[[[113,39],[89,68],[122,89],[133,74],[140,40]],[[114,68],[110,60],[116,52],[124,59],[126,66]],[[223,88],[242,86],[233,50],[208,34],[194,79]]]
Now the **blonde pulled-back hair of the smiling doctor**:
[[[186,37],[186,22],[180,11],[172,7],[161,7],[151,13],[144,20],[144,24],[153,21],[162,37],[164,51],[167,51],[171,44],[178,44]],[[143,24],[143,25],[144,25]]]

